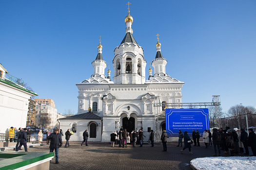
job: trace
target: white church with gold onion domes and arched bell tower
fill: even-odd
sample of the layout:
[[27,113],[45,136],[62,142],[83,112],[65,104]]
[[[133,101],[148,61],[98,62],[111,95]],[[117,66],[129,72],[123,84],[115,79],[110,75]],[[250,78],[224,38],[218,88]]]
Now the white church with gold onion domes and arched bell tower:
[[[132,23],[133,17],[128,11],[125,17],[126,34],[114,51],[113,79],[110,69],[107,76],[104,74],[107,64],[99,42],[97,57],[92,62],[93,75],[76,84],[79,89],[78,115],[59,119],[64,133],[67,129],[74,132],[70,140],[82,140],[82,133],[87,129],[88,141],[108,142],[110,134],[121,127],[128,132],[143,127],[144,140],[148,140],[148,130],[165,129],[165,103],[182,102],[184,82],[165,72],[167,60],[162,56],[159,39],[156,58],[151,62],[154,74],[150,68],[149,77],[146,77],[147,63],[143,48],[133,36]],[[154,107],[155,102],[162,103],[162,107]]]

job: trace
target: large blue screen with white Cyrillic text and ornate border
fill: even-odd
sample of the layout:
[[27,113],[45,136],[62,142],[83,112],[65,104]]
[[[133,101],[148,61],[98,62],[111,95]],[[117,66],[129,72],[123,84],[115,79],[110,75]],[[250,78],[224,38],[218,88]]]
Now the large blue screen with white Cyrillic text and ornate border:
[[208,109],[165,109],[166,133],[178,136],[178,131],[192,135],[198,130],[202,136],[205,129],[210,130]]

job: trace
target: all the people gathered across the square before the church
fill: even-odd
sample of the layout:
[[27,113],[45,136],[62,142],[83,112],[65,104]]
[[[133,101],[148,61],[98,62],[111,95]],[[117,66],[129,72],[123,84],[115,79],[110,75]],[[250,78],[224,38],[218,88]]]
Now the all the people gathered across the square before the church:
[[[180,153],[183,153],[185,149],[188,148],[189,153],[191,152],[191,144],[194,143],[195,147],[200,147],[199,139],[202,137],[202,141],[207,149],[209,146],[214,146],[214,156],[221,156],[221,150],[224,151],[223,154],[230,154],[230,156],[234,156],[234,154],[243,153],[245,155],[249,155],[249,147],[253,152],[253,155],[256,156],[256,134],[253,129],[248,129],[249,134],[244,129],[228,129],[223,130],[222,128],[213,128],[212,133],[210,130],[205,130],[201,135],[198,130],[192,131],[192,139],[188,135],[188,132],[184,133],[179,130],[178,133],[178,144],[177,147],[182,147],[182,143],[184,142],[184,147],[180,150]],[[27,142],[30,141],[31,131],[26,128],[17,128],[11,127],[9,129],[9,140],[10,142],[17,142],[15,151],[18,152],[22,150],[21,147],[24,147],[25,152],[27,152]],[[39,130],[38,133],[39,142],[42,142],[43,133]],[[55,150],[56,164],[59,163],[59,147],[62,146],[62,130],[56,128],[53,133],[46,132],[47,145],[50,143],[50,152]],[[65,148],[69,147],[69,139],[72,136],[70,129],[65,132],[66,144]],[[81,146],[84,144],[88,146],[89,134],[88,130],[83,132],[83,141]],[[133,147],[139,144],[139,147],[143,146],[143,128],[133,130],[131,133],[128,133],[126,129],[120,128],[120,131],[115,131],[110,134],[111,147],[114,147],[117,144],[119,147],[127,147],[127,144],[132,144]],[[151,141],[151,147],[154,147],[154,138],[155,133],[153,130],[150,131],[149,141]],[[161,134],[161,142],[163,145],[163,152],[167,152],[167,138],[168,135],[165,130],[162,131]],[[183,141],[182,141],[183,140]],[[194,141],[194,142],[193,142]],[[217,154],[218,153],[218,154]]]

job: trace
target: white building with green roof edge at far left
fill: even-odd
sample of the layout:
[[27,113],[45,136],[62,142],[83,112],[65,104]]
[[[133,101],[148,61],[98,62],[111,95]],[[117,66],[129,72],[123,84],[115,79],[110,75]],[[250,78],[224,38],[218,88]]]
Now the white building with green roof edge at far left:
[[29,99],[37,94],[6,79],[2,65],[0,70],[0,133],[8,134],[11,126],[26,127]]

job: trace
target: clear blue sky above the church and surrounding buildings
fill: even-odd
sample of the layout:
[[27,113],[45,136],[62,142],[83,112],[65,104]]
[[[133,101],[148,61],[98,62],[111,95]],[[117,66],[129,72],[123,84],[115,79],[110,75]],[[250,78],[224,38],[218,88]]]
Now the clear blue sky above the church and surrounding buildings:
[[[125,36],[127,2],[0,0],[0,63],[39,98],[53,99],[58,112],[77,113],[76,84],[93,74],[99,36],[103,59],[112,66]],[[130,2],[144,58],[155,58],[159,34],[166,73],[185,82],[182,102],[220,95],[223,112],[239,103],[256,106],[256,0]]]

